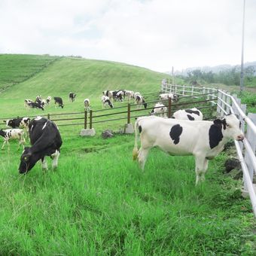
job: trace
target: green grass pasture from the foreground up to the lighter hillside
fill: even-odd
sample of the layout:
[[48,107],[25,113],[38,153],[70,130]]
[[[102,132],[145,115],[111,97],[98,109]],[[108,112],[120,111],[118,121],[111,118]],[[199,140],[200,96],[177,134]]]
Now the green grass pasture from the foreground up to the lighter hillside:
[[[125,65],[116,67],[123,72],[109,73],[105,83],[106,75],[99,76],[99,66],[107,62],[98,62],[97,72],[90,77],[91,86],[89,80],[82,85],[86,76],[81,73],[86,73],[90,61],[78,59],[84,69],[77,73],[81,87],[75,87],[72,72],[79,65],[74,64],[77,66],[72,69],[74,60],[56,60],[0,94],[0,117],[84,111],[87,97],[93,108],[101,108],[102,90],[111,89],[111,84],[113,89],[119,87],[111,77],[115,80],[115,74],[126,73]],[[133,72],[136,75],[136,67]],[[151,75],[139,73],[137,82],[134,78],[133,84],[123,87],[157,91],[162,77],[152,74],[156,75],[152,81]],[[50,81],[52,85],[47,86]],[[64,81],[67,85],[62,87]],[[69,91],[81,93],[73,103],[68,102]],[[66,105],[54,108],[52,102],[44,112],[26,111],[23,100],[38,94],[44,98],[62,96]],[[251,203],[241,197],[242,181],[222,173],[228,157],[225,152],[209,162],[206,182],[195,187],[193,157],[170,157],[152,149],[142,172],[132,160],[134,135],[115,134],[102,139],[102,130],[122,127],[123,121],[99,123],[95,137],[81,138],[78,134],[82,126],[59,126],[63,144],[56,171],[48,160],[47,172],[43,173],[37,163],[28,175],[20,175],[17,169],[22,149],[17,151],[17,142],[11,142],[10,151],[7,146],[0,151],[0,255],[256,254]]]

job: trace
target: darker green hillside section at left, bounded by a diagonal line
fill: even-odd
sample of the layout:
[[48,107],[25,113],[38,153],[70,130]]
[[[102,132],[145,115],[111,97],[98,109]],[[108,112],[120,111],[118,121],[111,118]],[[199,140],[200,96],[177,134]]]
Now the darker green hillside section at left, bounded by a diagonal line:
[[26,81],[47,67],[56,56],[0,54],[0,91]]

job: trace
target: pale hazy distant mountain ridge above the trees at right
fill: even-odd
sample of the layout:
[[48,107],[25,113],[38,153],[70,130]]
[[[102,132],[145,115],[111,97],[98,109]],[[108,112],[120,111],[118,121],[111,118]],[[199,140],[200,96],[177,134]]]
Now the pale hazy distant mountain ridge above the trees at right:
[[[245,62],[244,64],[244,68],[247,68],[248,66],[254,66],[255,69],[256,69],[256,61],[254,62]],[[193,68],[187,68],[187,69],[183,69],[181,71],[177,70],[175,71],[175,75],[184,75],[184,76],[187,76],[187,73],[188,72],[191,72],[195,69],[200,69],[201,71],[203,72],[213,72],[213,73],[219,73],[221,71],[225,71],[225,70],[228,70],[228,69],[233,69],[234,67],[238,67],[240,69],[240,65],[234,65],[234,66],[231,66],[231,65],[218,65],[218,66],[213,66],[213,67],[210,67],[210,66],[203,66],[203,67],[193,67]],[[172,75],[172,72],[166,72],[168,75]],[[256,75],[256,73],[255,73]]]

